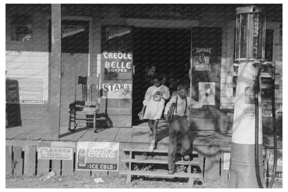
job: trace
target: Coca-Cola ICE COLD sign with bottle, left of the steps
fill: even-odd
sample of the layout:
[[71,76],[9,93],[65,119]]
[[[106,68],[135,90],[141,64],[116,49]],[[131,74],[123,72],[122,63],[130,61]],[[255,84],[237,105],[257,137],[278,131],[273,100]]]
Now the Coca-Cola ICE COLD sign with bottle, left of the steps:
[[77,143],[76,169],[90,171],[118,171],[119,143]]

